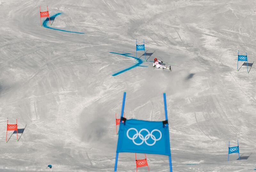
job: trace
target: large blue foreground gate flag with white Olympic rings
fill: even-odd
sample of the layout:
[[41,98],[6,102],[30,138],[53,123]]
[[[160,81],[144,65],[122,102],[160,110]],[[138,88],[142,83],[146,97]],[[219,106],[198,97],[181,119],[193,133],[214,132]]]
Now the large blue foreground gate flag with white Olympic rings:
[[116,152],[171,155],[168,125],[130,119],[120,123]]

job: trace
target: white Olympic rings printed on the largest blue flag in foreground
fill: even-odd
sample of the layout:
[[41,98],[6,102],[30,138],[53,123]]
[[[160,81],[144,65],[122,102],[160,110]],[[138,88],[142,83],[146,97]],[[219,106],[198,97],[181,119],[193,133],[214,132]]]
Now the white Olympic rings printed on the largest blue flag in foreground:
[[[129,136],[129,131],[130,131],[130,130],[136,131],[136,134],[134,134],[132,137]],[[142,134],[140,134],[142,131],[146,131],[148,134],[144,137]],[[160,134],[159,138],[157,138],[157,139],[156,139],[156,137],[153,135],[153,132],[155,132],[155,131],[159,132],[159,134]],[[153,129],[153,130],[151,131],[151,133],[149,133],[149,131],[148,131],[147,129],[141,129],[140,132],[138,132],[137,129],[135,129],[135,128],[130,128],[130,129],[127,130],[126,136],[127,136],[130,140],[132,140],[132,142],[133,142],[135,145],[142,145],[142,144],[144,143],[144,141],[145,141],[146,145],[148,145],[148,146],[153,146],[153,145],[156,144],[156,141],[158,141],[158,140],[160,140],[160,139],[162,138],[162,133],[161,133],[161,131],[158,130],[158,129]],[[139,136],[139,138],[141,139],[141,142],[140,142],[140,143],[136,143],[136,142],[134,141],[138,136]],[[154,140],[154,142],[153,142],[152,144],[149,144],[149,143],[147,142],[147,140],[149,139],[149,137],[150,137],[152,140]]]

